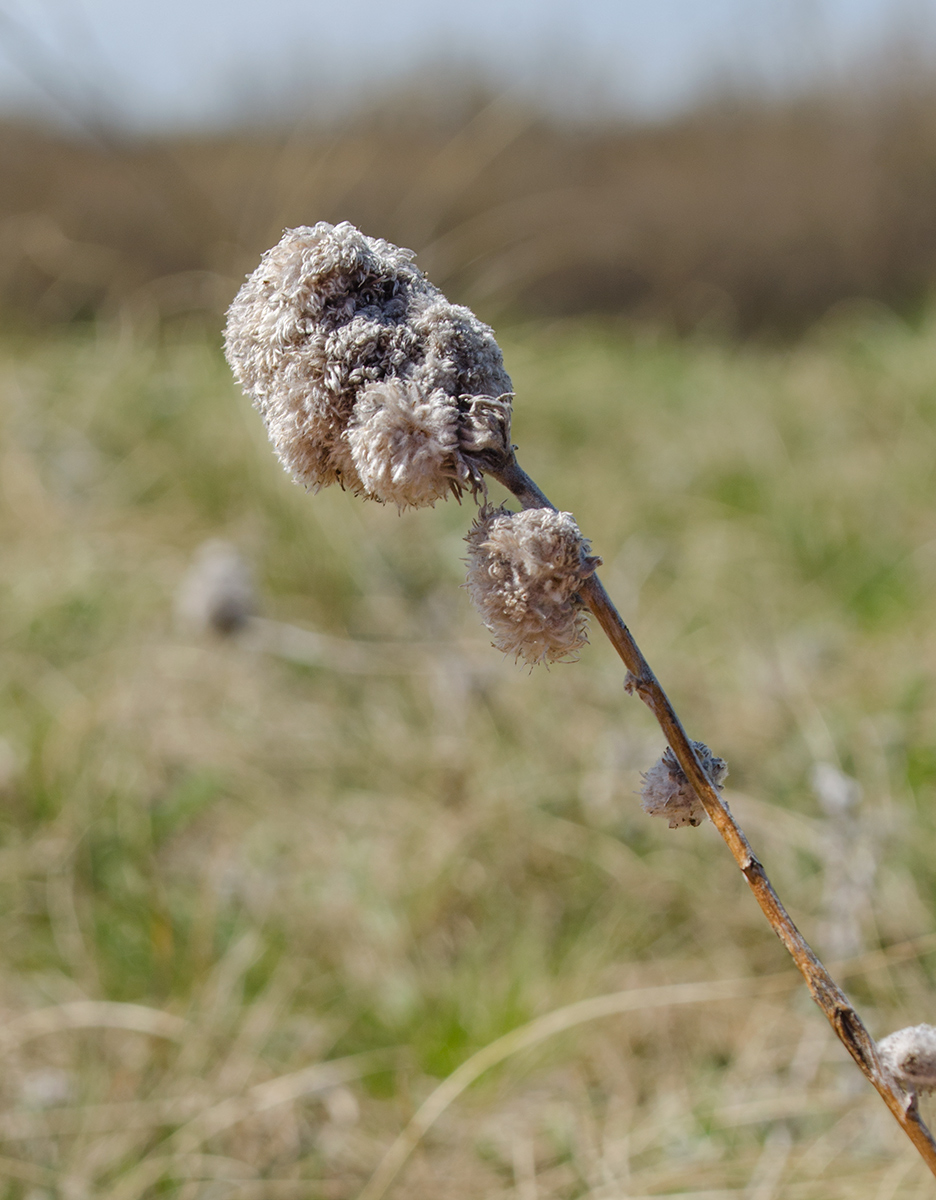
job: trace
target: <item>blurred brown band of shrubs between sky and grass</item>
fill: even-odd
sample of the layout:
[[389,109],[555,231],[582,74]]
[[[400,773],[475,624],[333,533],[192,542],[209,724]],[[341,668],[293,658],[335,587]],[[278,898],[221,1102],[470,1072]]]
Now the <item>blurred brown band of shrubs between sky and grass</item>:
[[133,140],[0,126],[0,304],[218,312],[289,224],[350,220],[488,314],[794,330],[936,277],[934,85],[563,124],[413,91],[342,121]]

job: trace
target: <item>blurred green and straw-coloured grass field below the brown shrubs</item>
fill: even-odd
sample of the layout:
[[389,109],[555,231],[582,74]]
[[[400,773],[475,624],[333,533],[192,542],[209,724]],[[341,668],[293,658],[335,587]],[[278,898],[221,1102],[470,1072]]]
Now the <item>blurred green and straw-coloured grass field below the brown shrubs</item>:
[[[821,954],[842,833],[811,780],[860,785],[839,974],[875,1036],[934,1021],[936,318],[502,343],[521,461]],[[0,396],[1,1195],[350,1200],[508,1031],[736,979],[510,1057],[391,1194],[931,1194],[804,989],[764,990],[787,960],[714,830],[641,812],[662,742],[600,634],[532,673],[488,647],[470,504],[304,494],[184,326],[8,338]],[[210,538],[326,661],[176,626]]]

